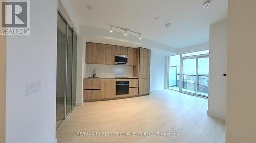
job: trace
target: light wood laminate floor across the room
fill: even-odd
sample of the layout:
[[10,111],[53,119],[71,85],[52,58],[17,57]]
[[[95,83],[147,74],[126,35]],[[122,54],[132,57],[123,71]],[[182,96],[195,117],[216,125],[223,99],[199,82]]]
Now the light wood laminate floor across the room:
[[[87,102],[77,106],[65,120],[56,134],[57,141],[224,143],[225,121],[207,115],[207,106],[207,99],[171,90],[153,91],[150,96]],[[77,136],[77,132],[83,135]],[[112,135],[96,135],[97,132]],[[152,134],[141,135],[144,132]],[[158,132],[165,135],[157,136]]]

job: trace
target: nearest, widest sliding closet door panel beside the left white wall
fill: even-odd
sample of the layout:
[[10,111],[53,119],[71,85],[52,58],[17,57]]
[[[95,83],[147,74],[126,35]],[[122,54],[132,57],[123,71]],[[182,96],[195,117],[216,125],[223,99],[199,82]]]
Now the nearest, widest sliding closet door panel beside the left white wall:
[[56,129],[65,119],[67,25],[58,14]]

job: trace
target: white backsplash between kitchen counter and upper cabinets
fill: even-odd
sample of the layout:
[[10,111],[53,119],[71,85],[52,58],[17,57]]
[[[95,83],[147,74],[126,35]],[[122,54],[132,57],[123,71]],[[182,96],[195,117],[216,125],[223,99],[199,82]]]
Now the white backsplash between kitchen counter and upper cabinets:
[[133,77],[133,66],[86,64],[86,77],[93,76],[95,68],[96,77]]

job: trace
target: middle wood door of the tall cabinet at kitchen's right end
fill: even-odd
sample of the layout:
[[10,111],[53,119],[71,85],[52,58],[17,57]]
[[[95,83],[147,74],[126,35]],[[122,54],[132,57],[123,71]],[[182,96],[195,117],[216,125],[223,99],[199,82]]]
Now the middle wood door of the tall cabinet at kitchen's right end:
[[150,78],[150,58],[140,57],[139,78]]

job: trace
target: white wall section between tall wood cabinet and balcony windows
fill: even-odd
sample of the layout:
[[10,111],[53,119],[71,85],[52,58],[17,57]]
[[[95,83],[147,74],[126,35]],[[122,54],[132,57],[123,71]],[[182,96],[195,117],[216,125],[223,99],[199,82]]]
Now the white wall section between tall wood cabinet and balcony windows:
[[166,81],[166,56],[151,52],[150,59],[150,91],[162,90]]

